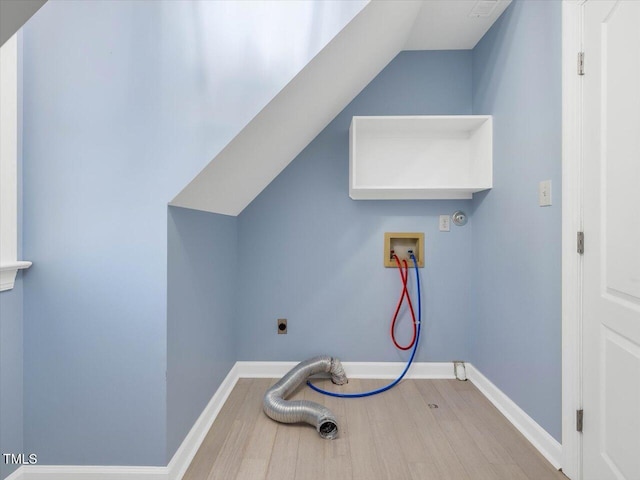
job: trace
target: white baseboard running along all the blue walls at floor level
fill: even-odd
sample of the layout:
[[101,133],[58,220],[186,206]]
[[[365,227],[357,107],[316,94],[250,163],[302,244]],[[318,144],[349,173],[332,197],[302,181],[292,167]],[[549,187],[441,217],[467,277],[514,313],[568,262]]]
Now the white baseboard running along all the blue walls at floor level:
[[[239,378],[280,378],[297,362],[236,362],[166,467],[25,465],[5,480],[181,480],[216,416]],[[560,468],[562,446],[513,400],[467,363],[469,380],[529,440],[551,464]],[[343,362],[350,378],[396,378],[401,362]],[[452,362],[414,363],[405,378],[455,378]]]

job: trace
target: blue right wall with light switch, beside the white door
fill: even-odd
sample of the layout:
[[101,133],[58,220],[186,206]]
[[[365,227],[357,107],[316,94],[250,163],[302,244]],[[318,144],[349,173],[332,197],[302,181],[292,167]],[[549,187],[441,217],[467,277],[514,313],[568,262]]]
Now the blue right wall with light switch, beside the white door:
[[[493,189],[473,200],[470,360],[561,439],[561,4],[514,2],[473,51],[494,119]],[[551,179],[553,205],[538,206]]]

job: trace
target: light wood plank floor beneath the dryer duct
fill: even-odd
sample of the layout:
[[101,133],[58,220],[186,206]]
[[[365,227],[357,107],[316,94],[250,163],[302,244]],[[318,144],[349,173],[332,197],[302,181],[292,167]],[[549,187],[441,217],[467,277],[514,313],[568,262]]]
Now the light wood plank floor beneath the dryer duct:
[[[330,408],[336,440],[269,419],[262,397],[275,382],[238,381],[183,480],[567,480],[470,382],[404,380],[360,399],[300,387],[290,399]],[[357,392],[388,381],[315,382]]]

